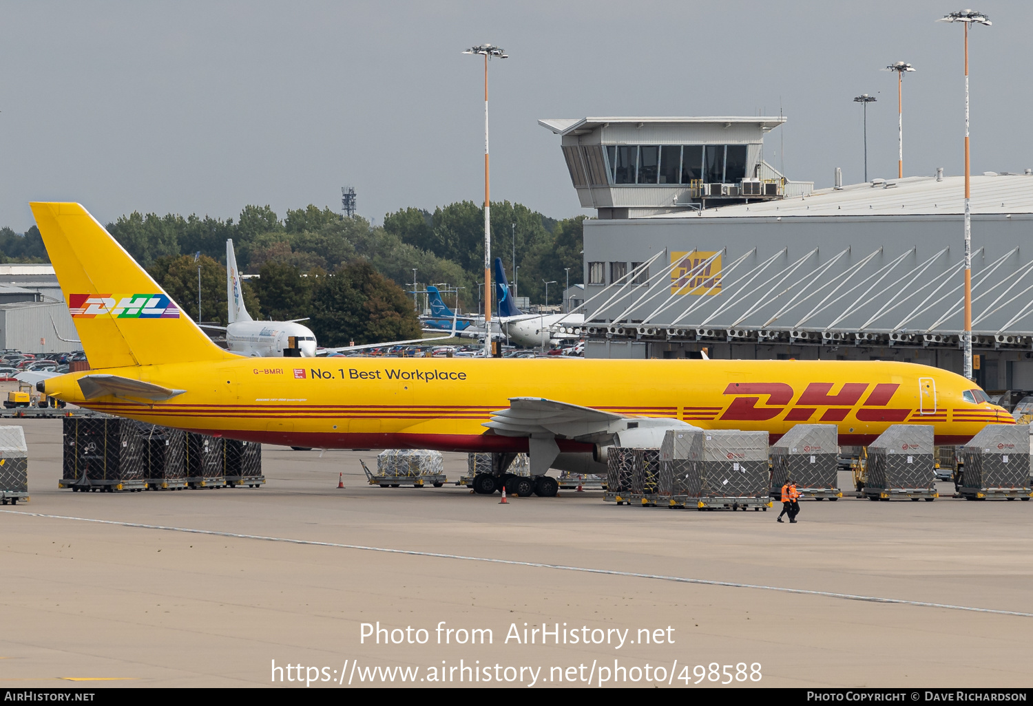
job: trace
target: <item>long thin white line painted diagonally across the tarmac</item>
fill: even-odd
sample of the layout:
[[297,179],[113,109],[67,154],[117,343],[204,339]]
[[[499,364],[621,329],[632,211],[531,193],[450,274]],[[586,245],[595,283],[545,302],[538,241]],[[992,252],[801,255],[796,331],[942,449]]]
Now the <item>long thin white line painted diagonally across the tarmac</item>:
[[976,608],[974,606],[954,606],[948,603],[928,603],[926,601],[905,601],[903,599],[880,598],[878,596],[857,596],[854,593],[836,593],[828,590],[808,590],[806,588],[787,588],[785,586],[765,586],[759,583],[735,583],[733,581],[714,581],[710,579],[687,578],[685,576],[667,576],[664,574],[640,574],[633,571],[615,571],[612,569],[592,569],[590,567],[568,567],[562,564],[540,564],[538,561],[516,561],[513,559],[490,558],[486,556],[465,556],[463,554],[443,554],[434,551],[416,551],[414,549],[389,549],[387,547],[369,547],[363,544],[340,544],[338,542],[318,542],[315,540],[300,540],[289,537],[267,537],[264,535],[241,535],[233,532],[218,532],[216,530],[194,530],[193,527],[170,527],[163,524],[144,524],[142,522],[120,522],[117,520],[101,520],[92,517],[70,517],[66,515],[44,515],[38,512],[22,512],[21,510],[0,510],[8,515],[24,515],[26,517],[44,517],[48,519],[74,520],[76,522],[94,522],[96,524],[114,524],[121,527],[137,527],[139,530],[161,530],[164,532],[184,532],[191,535],[211,535],[213,537],[231,537],[234,539],[261,540],[263,542],[283,542],[285,544],[305,544],[315,547],[336,547],[339,549],[358,549],[359,551],[379,551],[385,554],[408,554],[410,556],[431,556],[434,558],[459,559],[462,561],[484,561],[488,564],[505,564],[512,567],[532,567],[535,569],[556,569],[559,571],[576,571],[583,574],[602,574],[604,576],[626,576],[629,578],[646,578],[676,583],[694,583],[702,586],[725,586],[728,588],[753,588],[755,590],[775,590],[780,593],[796,593],[799,596],[821,596],[823,598],[841,599],[844,601],[864,601],[865,603],[888,603],[901,606],[918,606],[921,608],[942,608],[945,610],[965,610],[972,613],[992,613],[994,615],[1015,615],[1033,617],[1033,613],[1023,613],[1016,610],[1000,610],[997,608]]

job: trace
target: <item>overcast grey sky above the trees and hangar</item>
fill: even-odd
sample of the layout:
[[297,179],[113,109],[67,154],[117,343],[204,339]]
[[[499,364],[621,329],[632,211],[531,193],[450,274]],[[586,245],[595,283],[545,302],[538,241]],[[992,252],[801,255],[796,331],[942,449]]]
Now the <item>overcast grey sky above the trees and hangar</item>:
[[[483,198],[481,64],[491,63],[492,197],[583,212],[540,118],[787,116],[765,155],[790,179],[963,168],[959,2],[0,2],[0,225],[28,201],[75,200],[101,222],[132,211],[281,216]],[[974,0],[973,0],[974,1]],[[1033,3],[979,0],[970,37],[972,168],[1033,166]],[[781,147],[784,142],[784,149]],[[775,157],[778,152],[779,156]]]

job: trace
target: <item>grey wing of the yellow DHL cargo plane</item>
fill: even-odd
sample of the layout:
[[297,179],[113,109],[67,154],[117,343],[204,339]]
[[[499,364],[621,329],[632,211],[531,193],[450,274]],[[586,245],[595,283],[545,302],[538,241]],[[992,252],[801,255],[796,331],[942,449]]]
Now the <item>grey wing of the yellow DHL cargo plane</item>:
[[555,399],[511,397],[509,409],[493,412],[492,420],[483,425],[503,437],[552,434],[576,438],[609,432],[622,419],[619,414]]

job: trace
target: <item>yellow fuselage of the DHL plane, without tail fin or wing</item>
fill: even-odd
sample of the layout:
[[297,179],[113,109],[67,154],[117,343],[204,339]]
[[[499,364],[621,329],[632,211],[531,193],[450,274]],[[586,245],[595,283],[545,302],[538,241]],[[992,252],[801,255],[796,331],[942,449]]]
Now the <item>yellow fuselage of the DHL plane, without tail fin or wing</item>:
[[[185,393],[166,403],[85,400],[76,378],[109,373]],[[929,424],[961,444],[1002,408],[969,402],[975,385],[912,363],[792,360],[260,358],[71,373],[46,381],[61,399],[166,426],[321,448],[526,451],[482,423],[510,397],[543,397],[626,417],[766,430],[829,423],[866,445],[890,424]],[[971,392],[970,392],[971,394]],[[560,441],[567,452],[591,447]]]

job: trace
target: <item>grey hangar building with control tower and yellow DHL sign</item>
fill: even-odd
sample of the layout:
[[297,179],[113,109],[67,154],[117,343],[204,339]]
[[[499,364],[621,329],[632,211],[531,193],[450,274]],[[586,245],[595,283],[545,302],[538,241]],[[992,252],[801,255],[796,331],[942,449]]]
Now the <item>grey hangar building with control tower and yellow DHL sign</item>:
[[[814,190],[763,159],[781,120],[539,121],[597,210],[585,222],[586,355],[706,348],[961,373],[964,178]],[[1033,389],[1033,174],[973,176],[971,207],[976,382]]]

